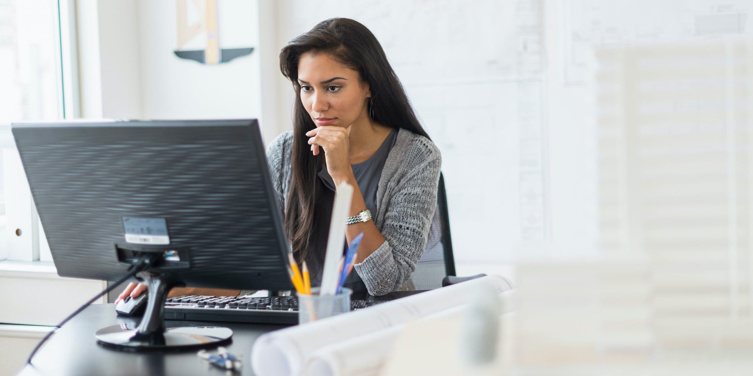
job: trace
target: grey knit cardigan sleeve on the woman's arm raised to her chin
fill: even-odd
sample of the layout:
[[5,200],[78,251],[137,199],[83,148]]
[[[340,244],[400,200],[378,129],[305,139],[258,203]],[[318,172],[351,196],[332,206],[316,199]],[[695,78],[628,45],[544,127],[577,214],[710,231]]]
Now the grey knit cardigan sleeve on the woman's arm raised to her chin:
[[354,265],[373,296],[398,290],[416,270],[437,208],[442,165],[439,150],[434,144],[422,143],[406,157],[417,157],[422,162],[410,168],[395,188],[382,228],[385,241],[363,262]]

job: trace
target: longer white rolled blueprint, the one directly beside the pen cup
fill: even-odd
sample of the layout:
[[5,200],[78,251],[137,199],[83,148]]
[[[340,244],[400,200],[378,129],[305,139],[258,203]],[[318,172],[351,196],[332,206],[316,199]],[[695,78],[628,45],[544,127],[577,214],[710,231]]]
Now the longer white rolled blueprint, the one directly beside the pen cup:
[[[380,342],[380,338],[387,339],[387,342],[393,338],[394,341],[397,331],[390,334],[383,332],[384,329],[465,305],[471,293],[480,286],[489,287],[497,294],[512,288],[505,277],[490,275],[349,314],[269,332],[261,335],[252,347],[252,368],[259,376],[294,376],[301,374],[303,364],[322,347],[357,340],[361,336],[367,339],[373,336],[375,343],[386,344],[386,341]],[[389,348],[386,351],[389,352]]]

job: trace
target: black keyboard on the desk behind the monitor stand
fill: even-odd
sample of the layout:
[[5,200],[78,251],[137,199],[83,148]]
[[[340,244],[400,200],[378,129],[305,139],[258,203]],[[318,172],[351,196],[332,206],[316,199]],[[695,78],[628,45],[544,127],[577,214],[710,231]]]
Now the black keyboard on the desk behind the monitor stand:
[[[356,311],[386,300],[351,300]],[[165,320],[297,324],[297,296],[175,296],[165,302]]]

